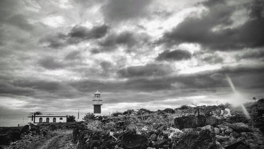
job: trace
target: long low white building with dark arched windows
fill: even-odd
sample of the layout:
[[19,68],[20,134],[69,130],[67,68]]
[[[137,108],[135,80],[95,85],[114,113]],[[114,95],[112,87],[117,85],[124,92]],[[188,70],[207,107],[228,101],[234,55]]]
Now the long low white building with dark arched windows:
[[37,124],[37,123],[59,123],[59,122],[67,122],[68,115],[34,115],[34,112],[31,111],[30,115],[27,116],[27,123]]

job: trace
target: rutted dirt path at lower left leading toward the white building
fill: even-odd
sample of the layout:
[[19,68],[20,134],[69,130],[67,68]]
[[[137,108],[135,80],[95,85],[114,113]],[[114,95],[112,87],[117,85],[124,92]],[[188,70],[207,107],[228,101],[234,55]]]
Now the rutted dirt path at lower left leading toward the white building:
[[71,143],[72,129],[58,129],[50,131],[46,136],[43,135],[25,135],[15,144],[5,146],[4,149],[71,149],[74,144]]

